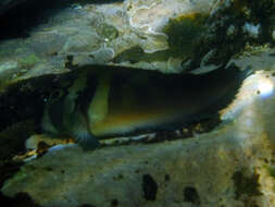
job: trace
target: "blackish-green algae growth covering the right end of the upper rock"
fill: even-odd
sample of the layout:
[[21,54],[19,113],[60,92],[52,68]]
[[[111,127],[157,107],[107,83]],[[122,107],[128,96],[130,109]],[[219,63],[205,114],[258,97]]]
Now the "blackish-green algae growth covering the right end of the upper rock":
[[[264,12],[263,12],[264,11]],[[265,12],[266,11],[266,12]],[[187,70],[200,66],[202,58],[215,50],[215,56],[207,64],[226,65],[233,56],[245,50],[247,44],[263,45],[272,41],[271,20],[275,12],[273,0],[249,1],[233,0],[229,4],[220,7],[205,20],[205,33],[195,44],[191,63]],[[246,24],[258,25],[257,37],[250,36],[243,29]],[[234,33],[228,28],[234,27]]]

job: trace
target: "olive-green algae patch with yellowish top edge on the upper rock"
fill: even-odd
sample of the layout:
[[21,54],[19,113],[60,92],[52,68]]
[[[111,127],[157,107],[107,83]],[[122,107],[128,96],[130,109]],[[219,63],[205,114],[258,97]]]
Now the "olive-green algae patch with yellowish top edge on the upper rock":
[[188,59],[205,32],[207,14],[191,13],[170,19],[163,27],[167,35],[168,49],[147,53],[140,46],[132,47],[118,53],[113,61],[137,63],[139,61],[167,61],[171,57]]

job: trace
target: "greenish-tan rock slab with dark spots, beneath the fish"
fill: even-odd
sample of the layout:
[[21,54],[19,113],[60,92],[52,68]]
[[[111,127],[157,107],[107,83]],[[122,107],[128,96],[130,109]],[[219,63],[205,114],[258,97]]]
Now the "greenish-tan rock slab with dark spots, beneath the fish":
[[1,191],[25,192],[46,207],[274,206],[272,74],[247,77],[210,133],[95,151],[58,147],[28,161]]

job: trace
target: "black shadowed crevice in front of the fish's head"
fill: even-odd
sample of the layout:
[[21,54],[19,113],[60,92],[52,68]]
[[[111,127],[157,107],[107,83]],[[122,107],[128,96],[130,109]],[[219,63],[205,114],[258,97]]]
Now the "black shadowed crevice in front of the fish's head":
[[[54,90],[54,76],[32,78],[7,88],[0,94],[0,131],[24,120],[40,121],[45,97]],[[43,87],[46,86],[47,87]]]

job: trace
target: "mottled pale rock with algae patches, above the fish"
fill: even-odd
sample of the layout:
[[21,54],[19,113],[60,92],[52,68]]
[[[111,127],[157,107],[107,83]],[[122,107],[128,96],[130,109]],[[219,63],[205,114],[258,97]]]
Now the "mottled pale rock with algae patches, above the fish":
[[274,41],[273,0],[43,2],[1,17],[0,89],[89,64],[200,74]]

